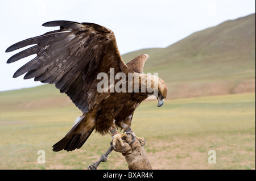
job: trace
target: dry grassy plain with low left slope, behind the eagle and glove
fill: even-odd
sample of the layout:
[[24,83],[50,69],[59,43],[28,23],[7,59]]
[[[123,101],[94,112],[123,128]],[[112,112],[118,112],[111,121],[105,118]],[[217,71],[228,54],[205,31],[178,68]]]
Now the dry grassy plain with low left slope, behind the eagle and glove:
[[[146,138],[153,169],[255,169],[255,93],[156,104],[143,102],[132,126]],[[53,86],[0,92],[0,110],[0,169],[86,169],[109,148],[110,136],[93,133],[79,150],[52,151],[80,115]],[[46,151],[46,163],[37,162],[38,150]],[[208,163],[209,150],[217,163]],[[127,163],[113,151],[98,169]]]

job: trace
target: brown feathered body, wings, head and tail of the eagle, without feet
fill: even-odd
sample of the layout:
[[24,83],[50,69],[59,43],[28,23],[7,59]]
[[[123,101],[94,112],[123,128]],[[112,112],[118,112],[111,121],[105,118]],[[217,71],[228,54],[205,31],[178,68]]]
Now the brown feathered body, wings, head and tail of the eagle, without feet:
[[[142,54],[131,60],[127,65],[117,48],[114,33],[108,28],[93,23],[77,23],[69,21],[53,21],[43,26],[59,26],[60,30],[47,32],[44,35],[20,41],[6,49],[6,52],[34,45],[9,58],[7,63],[15,62],[21,58],[36,54],[37,56],[18,69],[15,77],[26,73],[24,79],[34,78],[35,81],[55,84],[61,93],[69,96],[72,102],[82,111],[71,131],[53,145],[54,151],[79,149],[95,129],[96,132],[106,134],[109,132],[113,120],[115,125],[122,128],[121,123],[131,121],[135,108],[154,92],[111,92],[114,84],[108,81],[108,92],[97,91],[101,79],[99,73],[110,76],[110,68],[114,74],[123,73],[128,77],[152,78],[152,85],[158,81],[158,95],[155,95],[160,106],[167,95],[167,86],[162,79],[153,75],[142,74],[143,66],[148,58]],[[142,79],[139,81],[139,90],[146,85]],[[130,86],[126,79],[126,87]],[[160,104],[159,103],[159,104]]]

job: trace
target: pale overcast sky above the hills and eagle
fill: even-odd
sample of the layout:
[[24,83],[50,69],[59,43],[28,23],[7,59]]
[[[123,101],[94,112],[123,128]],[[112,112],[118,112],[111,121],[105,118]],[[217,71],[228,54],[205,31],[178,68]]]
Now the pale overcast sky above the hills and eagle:
[[57,27],[51,20],[91,22],[111,29],[121,54],[143,48],[167,47],[195,31],[255,13],[254,0],[31,0],[0,1],[0,91],[42,85],[14,72],[31,57],[6,64],[15,52],[10,45]]

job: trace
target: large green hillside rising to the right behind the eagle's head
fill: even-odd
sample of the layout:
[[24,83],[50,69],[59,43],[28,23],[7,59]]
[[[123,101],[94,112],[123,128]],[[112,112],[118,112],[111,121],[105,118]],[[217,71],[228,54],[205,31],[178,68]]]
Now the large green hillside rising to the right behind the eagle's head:
[[144,73],[159,73],[168,98],[255,92],[255,14],[122,57],[128,62],[142,53],[150,55]]

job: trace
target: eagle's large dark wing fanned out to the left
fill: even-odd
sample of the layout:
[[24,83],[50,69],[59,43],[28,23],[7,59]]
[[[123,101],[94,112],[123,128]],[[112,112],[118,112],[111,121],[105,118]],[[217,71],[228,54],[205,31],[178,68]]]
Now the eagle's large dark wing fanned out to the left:
[[55,84],[82,111],[88,112],[94,104],[88,99],[90,91],[96,91],[96,77],[100,72],[130,71],[117,48],[114,33],[93,23],[53,21],[43,26],[60,26],[60,30],[20,41],[6,52],[34,45],[9,58],[7,63],[36,54],[37,56],[18,69],[14,77],[26,73],[24,79]]

